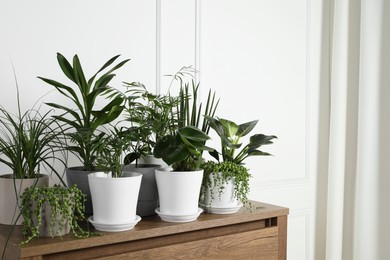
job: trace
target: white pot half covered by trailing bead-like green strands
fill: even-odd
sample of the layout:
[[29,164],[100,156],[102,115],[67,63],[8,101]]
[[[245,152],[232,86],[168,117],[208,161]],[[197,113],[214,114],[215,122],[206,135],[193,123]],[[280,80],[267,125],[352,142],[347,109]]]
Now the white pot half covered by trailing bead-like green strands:
[[[218,173],[221,175],[221,173]],[[235,180],[230,179],[222,184],[223,190],[219,188],[219,184],[215,186],[214,178],[210,175],[211,187],[206,190],[204,204],[206,207],[235,207],[239,201],[234,195]]]

